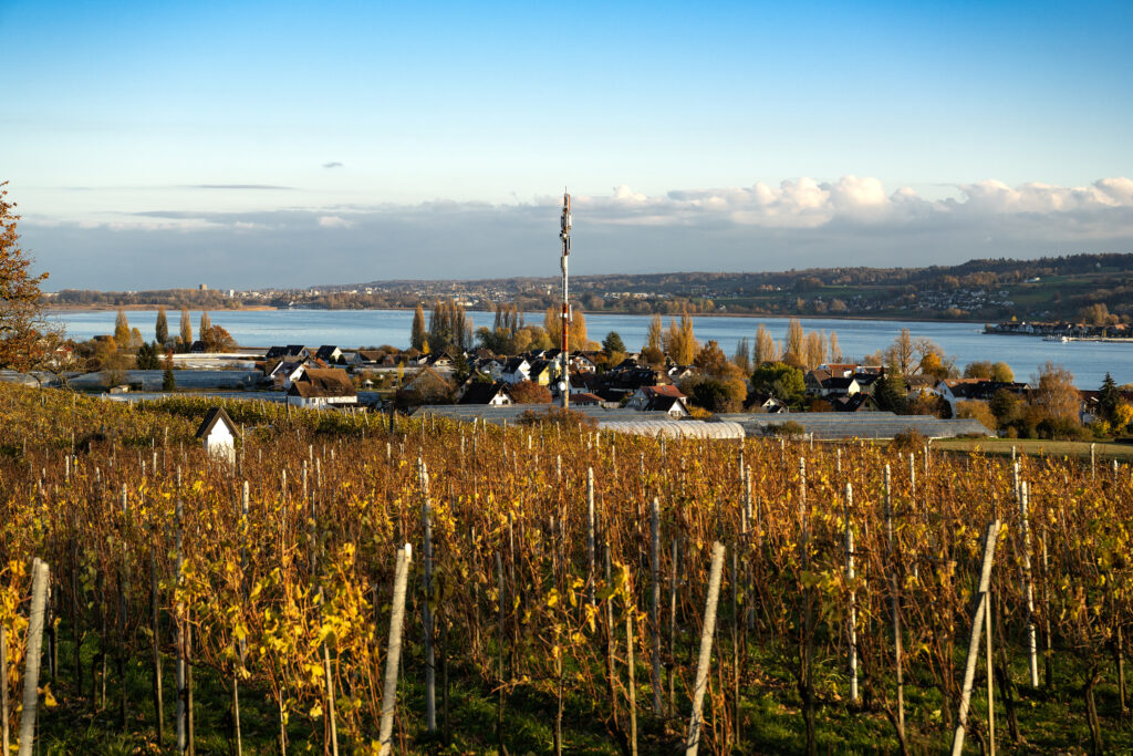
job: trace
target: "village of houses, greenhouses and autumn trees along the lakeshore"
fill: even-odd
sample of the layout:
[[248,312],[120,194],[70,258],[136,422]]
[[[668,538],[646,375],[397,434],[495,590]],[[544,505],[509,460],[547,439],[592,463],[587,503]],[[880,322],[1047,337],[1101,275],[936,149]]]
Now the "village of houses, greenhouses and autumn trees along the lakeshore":
[[[586,339],[583,330],[576,342],[585,348],[571,350],[564,360],[554,346],[556,333],[526,325],[506,307],[496,325],[480,329],[475,339],[468,329],[446,330],[435,323],[426,328],[424,311],[418,311],[410,334],[416,346],[408,348],[301,343],[255,348],[222,339],[222,348],[210,351],[216,347],[218,330],[210,322],[203,331],[213,341],[186,341],[187,350],[167,348],[160,360],[156,343],[142,343],[125,359],[121,350],[109,356],[105,345],[116,341],[108,334],[90,343],[60,346],[50,372],[7,380],[101,392],[119,401],[189,392],[326,411],[434,415],[495,424],[562,406],[565,393],[571,411],[604,427],[700,436],[729,428],[735,436],[893,438],[915,431],[926,438],[1083,440],[1100,423],[1109,433],[1123,431],[1128,424],[1123,408],[1133,404],[1133,393],[1125,389],[1110,387],[1104,398],[1106,387],[1080,390],[1072,376],[1053,375],[1062,383],[1050,389],[1015,381],[1003,364],[971,364],[961,371],[935,345],[908,334],[868,359],[847,360],[837,354],[833,338],[834,343],[826,343],[825,337],[807,334],[793,324],[789,335],[793,343],[768,343],[759,335],[755,354],[744,340],[736,355],[727,357],[715,341],[701,346],[691,335],[692,321],[685,314],[680,324],[671,322],[668,331],[655,318],[649,342],[638,351],[627,350],[616,332],[599,343]],[[452,313],[459,321],[463,311],[454,301],[438,303],[432,320],[437,312],[442,320]],[[553,331],[553,320],[546,325]],[[688,333],[682,335],[682,329]],[[118,339],[128,345],[128,324],[120,324],[119,331]],[[432,349],[431,341],[440,348]],[[184,349],[180,337],[167,335],[167,343]],[[522,343],[528,348],[509,348]],[[95,354],[101,359],[84,357],[100,348],[103,352]],[[1051,390],[1059,393],[1059,422],[1040,416],[1039,409],[1049,410]]]

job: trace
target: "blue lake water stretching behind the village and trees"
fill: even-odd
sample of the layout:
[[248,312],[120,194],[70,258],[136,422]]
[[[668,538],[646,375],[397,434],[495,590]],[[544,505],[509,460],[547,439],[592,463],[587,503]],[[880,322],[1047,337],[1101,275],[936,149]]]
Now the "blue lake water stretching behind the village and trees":
[[[67,333],[85,340],[114,330],[116,311],[67,311],[56,313]],[[156,311],[127,311],[130,325],[153,338]],[[194,332],[201,322],[199,312],[190,312]],[[247,309],[213,311],[212,322],[223,325],[242,346],[269,347],[282,343],[303,343],[317,347],[324,343],[342,348],[391,343],[404,347],[409,342],[412,312],[404,309]],[[492,325],[492,313],[471,312],[474,329]],[[169,311],[169,331],[176,334],[180,325],[179,311]],[[527,315],[530,323],[543,323],[543,313]],[[617,331],[629,349],[640,349],[649,326],[649,315],[587,314],[586,324],[590,339],[600,341],[610,331]],[[668,324],[668,318],[665,318]],[[786,334],[784,317],[721,317],[699,315],[693,318],[697,338],[704,342],[715,339],[729,355],[739,340],[755,340],[756,326],[764,323],[776,340]],[[1070,369],[1080,388],[1093,389],[1101,384],[1106,372],[1118,384],[1133,382],[1133,343],[1102,343],[1096,341],[1043,341],[1037,337],[986,335],[977,323],[920,322],[920,321],[845,321],[807,318],[807,331],[823,330],[838,334],[842,354],[861,357],[884,348],[902,328],[912,335],[936,341],[945,352],[963,366],[976,360],[1004,360],[1015,371],[1017,380],[1026,381],[1048,359]]]

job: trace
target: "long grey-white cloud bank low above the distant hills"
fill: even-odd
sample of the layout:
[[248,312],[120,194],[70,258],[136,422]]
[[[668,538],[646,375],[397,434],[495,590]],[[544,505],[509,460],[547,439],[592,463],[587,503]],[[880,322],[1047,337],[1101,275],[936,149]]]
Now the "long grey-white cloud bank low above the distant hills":
[[[654,196],[621,185],[573,198],[572,270],[930,265],[1133,249],[1128,178],[952,188],[955,196],[929,199],[854,176]],[[20,231],[39,265],[52,272],[53,289],[554,275],[560,202],[548,195],[517,204],[167,210],[84,223],[25,215]]]

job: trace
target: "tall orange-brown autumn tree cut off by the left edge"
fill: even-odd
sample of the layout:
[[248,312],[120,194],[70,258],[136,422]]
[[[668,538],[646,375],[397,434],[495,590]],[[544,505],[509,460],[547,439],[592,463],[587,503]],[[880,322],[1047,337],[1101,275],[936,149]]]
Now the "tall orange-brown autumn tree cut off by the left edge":
[[19,215],[12,212],[16,203],[5,199],[7,186],[0,182],[0,367],[26,371],[43,362],[62,333],[43,320],[40,283],[48,274],[28,271],[32,258],[19,248]]

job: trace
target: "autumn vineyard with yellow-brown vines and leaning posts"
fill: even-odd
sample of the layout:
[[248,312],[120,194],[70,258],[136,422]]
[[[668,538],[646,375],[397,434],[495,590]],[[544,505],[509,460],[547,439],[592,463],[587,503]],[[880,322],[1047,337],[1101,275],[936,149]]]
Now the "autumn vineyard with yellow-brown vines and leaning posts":
[[1128,467],[207,408],[0,388],[12,753],[1133,751]]

